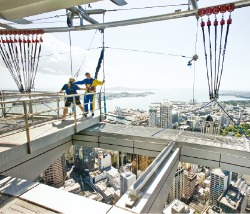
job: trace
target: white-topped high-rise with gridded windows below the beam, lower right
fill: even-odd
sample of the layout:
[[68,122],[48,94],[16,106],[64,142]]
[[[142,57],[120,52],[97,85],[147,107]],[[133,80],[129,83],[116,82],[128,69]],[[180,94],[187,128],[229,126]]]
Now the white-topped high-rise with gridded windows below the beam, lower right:
[[221,169],[212,169],[210,179],[209,203],[212,205],[216,205],[218,198],[225,192],[227,187],[228,176],[226,176]]

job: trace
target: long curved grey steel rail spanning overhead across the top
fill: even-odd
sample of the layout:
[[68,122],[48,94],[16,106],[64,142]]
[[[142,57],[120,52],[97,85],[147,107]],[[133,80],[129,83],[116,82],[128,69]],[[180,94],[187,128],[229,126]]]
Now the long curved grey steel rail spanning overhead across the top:
[[[234,3],[235,8],[243,8],[250,6],[250,0],[241,0],[231,2]],[[218,5],[219,6],[219,5]],[[175,13],[168,13],[162,14],[157,16],[148,16],[136,19],[128,19],[122,21],[114,21],[114,22],[107,22],[103,24],[92,24],[92,25],[84,25],[84,26],[77,26],[77,27],[55,27],[55,28],[43,28],[42,30],[45,33],[57,33],[57,32],[68,32],[68,31],[81,31],[81,30],[93,30],[93,29],[105,29],[105,28],[113,28],[113,27],[121,27],[121,26],[128,26],[128,25],[137,25],[137,24],[145,24],[150,22],[158,22],[158,21],[166,21],[171,19],[179,19],[189,16],[196,16],[198,9],[183,11],[183,12],[175,12]],[[36,30],[28,29],[28,30]]]

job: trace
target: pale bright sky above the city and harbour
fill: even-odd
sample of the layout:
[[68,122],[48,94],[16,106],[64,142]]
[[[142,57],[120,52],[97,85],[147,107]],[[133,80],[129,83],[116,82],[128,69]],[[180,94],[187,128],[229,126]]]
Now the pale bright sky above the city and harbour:
[[[120,9],[156,5],[185,4],[187,0],[127,0],[128,5],[117,7],[111,1],[105,0],[91,4],[92,9]],[[142,3],[143,2],[143,3]],[[214,4],[228,3],[229,1],[200,0],[199,7]],[[85,7],[83,5],[83,7]],[[147,10],[126,10],[107,12],[105,22],[124,20],[135,17],[145,17],[172,13],[176,9],[187,10],[187,6],[164,7]],[[15,25],[15,27],[55,27],[67,26],[66,17],[44,19],[51,16],[65,14],[65,10],[59,10],[28,17],[36,24],[29,26]],[[221,19],[221,15],[217,16]],[[227,19],[228,14],[225,14]],[[102,22],[102,15],[93,16]],[[207,18],[204,18],[206,20]],[[214,16],[211,16],[214,19]],[[249,49],[250,49],[250,8],[236,9],[232,13],[233,24],[230,27],[228,46],[222,76],[221,90],[249,91]],[[53,23],[45,23],[53,22]],[[78,20],[74,20],[75,25]],[[40,23],[40,24],[39,24]],[[199,20],[200,23],[200,20]],[[87,23],[85,23],[87,24]],[[112,48],[136,49],[166,54],[185,55],[192,57],[195,54],[195,40],[197,32],[197,20],[195,17],[187,17],[175,20],[153,22],[148,24],[126,27],[109,28],[105,30],[105,46],[110,47],[105,51],[105,80],[106,87],[128,88],[154,88],[154,89],[191,89],[194,80],[194,65],[187,66],[188,58],[149,54],[143,52],[131,52]],[[91,50],[90,42],[95,34]],[[102,35],[99,31],[71,32],[72,39],[72,73],[80,69],[78,80],[84,78],[85,72],[94,75],[95,67],[102,46]],[[43,46],[35,80],[36,90],[60,90],[71,75],[71,63],[69,54],[69,34],[51,33],[43,36]],[[198,61],[195,63],[195,90],[207,89],[206,66],[200,25],[197,36]],[[61,52],[66,52],[60,54]],[[83,62],[83,66],[80,65]],[[0,60],[0,89],[16,89],[16,85]],[[103,79],[102,69],[98,77]]]

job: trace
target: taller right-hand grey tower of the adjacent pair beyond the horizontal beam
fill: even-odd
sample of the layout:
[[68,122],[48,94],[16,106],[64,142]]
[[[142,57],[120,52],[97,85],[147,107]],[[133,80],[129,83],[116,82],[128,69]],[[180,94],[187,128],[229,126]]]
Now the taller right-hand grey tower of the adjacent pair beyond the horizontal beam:
[[160,104],[160,126],[161,128],[173,128],[172,124],[172,110],[171,102],[163,101]]

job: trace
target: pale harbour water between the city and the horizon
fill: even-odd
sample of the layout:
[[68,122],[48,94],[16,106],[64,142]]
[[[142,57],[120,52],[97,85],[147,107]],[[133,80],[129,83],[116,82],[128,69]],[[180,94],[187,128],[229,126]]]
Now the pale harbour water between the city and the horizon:
[[[107,92],[124,92],[124,91],[109,91]],[[135,92],[153,92],[154,94],[145,97],[124,97],[116,98],[112,100],[107,100],[107,111],[114,111],[116,107],[126,108],[126,109],[141,109],[148,111],[151,103],[161,102],[161,101],[185,101],[189,102],[193,100],[193,90],[191,89],[160,89],[160,90],[145,90],[145,91],[129,91],[129,93]],[[194,92],[194,99],[197,102],[209,102],[208,90],[196,90]],[[220,101],[229,100],[247,100],[244,98],[238,98],[234,96],[220,96]]]

